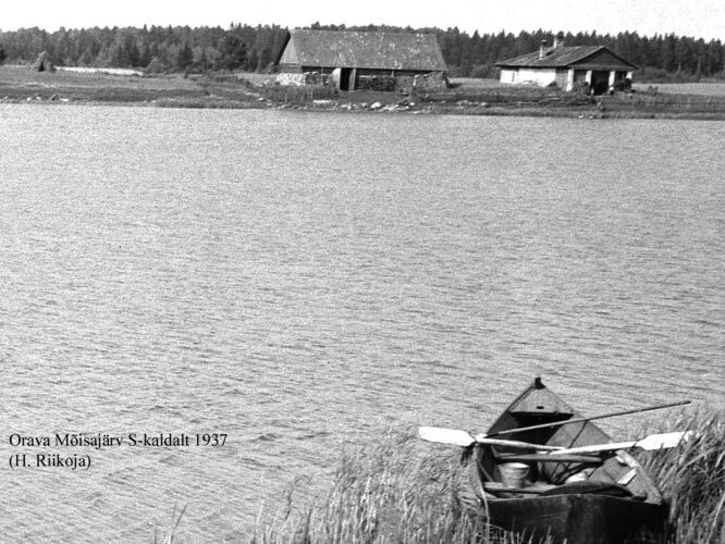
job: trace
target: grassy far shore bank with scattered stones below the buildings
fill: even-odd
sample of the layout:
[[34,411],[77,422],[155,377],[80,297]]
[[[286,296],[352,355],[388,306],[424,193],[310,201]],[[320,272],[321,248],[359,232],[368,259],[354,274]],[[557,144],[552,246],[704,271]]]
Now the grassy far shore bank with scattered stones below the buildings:
[[284,87],[261,74],[183,76],[108,71],[34,72],[0,66],[0,103],[109,104],[161,108],[292,109],[575,119],[725,120],[725,84],[636,86],[634,94],[590,97],[555,88],[454,79],[453,88],[410,95],[331,87]]

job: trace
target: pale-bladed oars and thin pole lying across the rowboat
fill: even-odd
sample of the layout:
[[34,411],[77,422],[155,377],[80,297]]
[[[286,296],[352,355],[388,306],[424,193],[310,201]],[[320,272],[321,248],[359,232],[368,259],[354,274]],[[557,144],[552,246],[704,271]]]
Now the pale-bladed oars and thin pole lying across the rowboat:
[[693,432],[677,431],[672,433],[659,433],[659,434],[651,434],[649,436],[646,436],[637,441],[614,442],[610,444],[593,444],[589,446],[579,446],[572,448],[564,448],[562,446],[546,446],[542,444],[531,444],[528,442],[520,442],[520,441],[494,438],[493,436],[503,436],[506,434],[519,433],[525,431],[534,431],[537,429],[548,429],[552,426],[568,425],[572,423],[585,423],[597,419],[613,418],[615,416],[639,413],[649,410],[661,410],[664,408],[672,408],[674,406],[684,406],[688,404],[690,404],[690,400],[683,400],[679,403],[672,403],[667,405],[650,406],[647,408],[636,408],[632,410],[603,413],[601,416],[593,416],[591,418],[575,418],[565,421],[542,423],[539,425],[508,429],[505,431],[499,431],[491,434],[477,434],[475,436],[466,431],[458,431],[454,429],[442,429],[438,426],[421,426],[418,430],[418,435],[426,441],[435,442],[439,444],[452,444],[455,446],[463,446],[463,447],[470,446],[471,444],[488,444],[491,446],[505,446],[517,449],[548,452],[550,455],[555,455],[555,456],[594,454],[600,452],[612,452],[616,449],[628,449],[631,447],[638,447],[646,450],[655,450],[655,449],[675,447],[678,444],[680,444],[683,441],[687,441],[690,437],[692,437]]

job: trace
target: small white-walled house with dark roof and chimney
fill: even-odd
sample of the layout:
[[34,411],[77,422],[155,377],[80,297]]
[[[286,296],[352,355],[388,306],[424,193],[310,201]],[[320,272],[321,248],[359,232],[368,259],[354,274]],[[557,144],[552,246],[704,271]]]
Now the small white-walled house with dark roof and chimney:
[[565,47],[558,40],[553,47],[546,47],[544,41],[538,51],[496,65],[501,67],[504,84],[556,85],[565,90],[585,89],[595,95],[625,88],[631,83],[632,71],[637,70],[604,46]]

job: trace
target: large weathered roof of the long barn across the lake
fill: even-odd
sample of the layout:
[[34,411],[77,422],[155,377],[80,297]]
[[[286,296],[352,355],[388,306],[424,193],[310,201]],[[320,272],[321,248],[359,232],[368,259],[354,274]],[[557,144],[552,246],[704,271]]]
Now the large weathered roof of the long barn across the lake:
[[433,34],[290,30],[279,64],[444,72]]

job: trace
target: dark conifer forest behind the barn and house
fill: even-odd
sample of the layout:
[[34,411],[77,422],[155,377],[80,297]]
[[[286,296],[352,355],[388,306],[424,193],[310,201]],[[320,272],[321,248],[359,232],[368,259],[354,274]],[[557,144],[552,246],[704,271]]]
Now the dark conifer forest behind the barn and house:
[[[411,28],[321,26],[310,28],[413,32]],[[416,29],[438,35],[451,76],[495,77],[497,61],[553,42],[554,33],[469,35],[458,28]],[[48,60],[66,66],[136,67],[148,72],[241,70],[268,72],[284,44],[286,28],[231,24],[229,28],[144,26],[143,28],[86,28],[48,33],[40,28],[0,32],[0,63],[30,64],[45,51]],[[565,44],[604,45],[640,67],[640,76],[695,81],[725,77],[725,45],[689,37],[637,33],[564,35]]]

